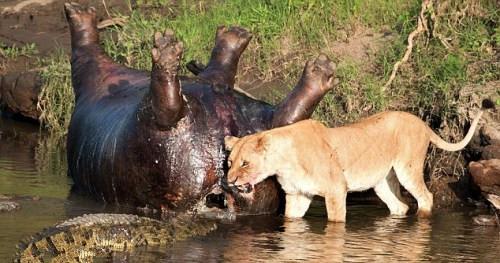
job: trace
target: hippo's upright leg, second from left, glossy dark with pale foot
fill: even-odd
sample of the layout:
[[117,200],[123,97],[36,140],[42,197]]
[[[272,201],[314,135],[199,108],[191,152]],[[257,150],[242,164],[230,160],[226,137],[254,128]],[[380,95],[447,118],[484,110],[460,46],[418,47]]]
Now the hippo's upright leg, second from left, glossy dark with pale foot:
[[176,41],[171,30],[166,30],[163,35],[157,32],[154,36],[150,98],[160,129],[172,127],[183,116],[185,102],[177,76],[182,48],[182,42]]

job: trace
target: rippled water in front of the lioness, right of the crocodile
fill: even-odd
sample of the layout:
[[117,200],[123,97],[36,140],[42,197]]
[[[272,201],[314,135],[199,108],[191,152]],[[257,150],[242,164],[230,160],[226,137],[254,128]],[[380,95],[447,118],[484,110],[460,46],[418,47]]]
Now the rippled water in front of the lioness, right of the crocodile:
[[293,220],[239,218],[207,237],[142,256],[161,262],[496,262],[500,257],[498,230],[472,225],[465,212],[440,211],[430,220],[386,213],[385,207],[353,205],[346,224],[327,222],[324,213],[314,211]]

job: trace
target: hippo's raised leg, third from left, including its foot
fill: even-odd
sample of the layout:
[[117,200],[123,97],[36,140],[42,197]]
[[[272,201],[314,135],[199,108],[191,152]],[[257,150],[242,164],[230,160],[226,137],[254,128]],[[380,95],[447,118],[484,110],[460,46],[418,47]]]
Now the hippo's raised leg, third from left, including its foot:
[[201,71],[198,77],[213,84],[233,86],[238,69],[240,56],[247,47],[252,35],[241,27],[227,29],[220,26],[217,29],[215,47],[212,50],[210,61],[205,69],[200,70],[200,65],[192,64]]

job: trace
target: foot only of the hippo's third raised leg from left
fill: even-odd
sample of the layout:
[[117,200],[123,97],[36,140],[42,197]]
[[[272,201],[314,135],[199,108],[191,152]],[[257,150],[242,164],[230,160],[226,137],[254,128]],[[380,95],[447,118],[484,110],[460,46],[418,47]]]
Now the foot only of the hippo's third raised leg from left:
[[239,56],[251,39],[252,34],[244,28],[232,26],[228,29],[225,26],[219,26],[215,43],[222,50],[232,50],[235,55]]

